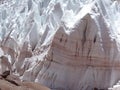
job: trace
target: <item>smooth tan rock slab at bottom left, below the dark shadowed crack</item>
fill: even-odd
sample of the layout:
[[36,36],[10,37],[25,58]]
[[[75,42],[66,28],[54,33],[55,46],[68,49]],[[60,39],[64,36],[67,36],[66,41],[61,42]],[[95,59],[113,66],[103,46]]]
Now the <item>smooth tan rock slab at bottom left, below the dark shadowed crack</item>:
[[[20,83],[20,82],[19,82]],[[1,90],[50,90],[38,83],[33,82],[21,82],[19,86],[12,84],[10,81],[0,79]]]

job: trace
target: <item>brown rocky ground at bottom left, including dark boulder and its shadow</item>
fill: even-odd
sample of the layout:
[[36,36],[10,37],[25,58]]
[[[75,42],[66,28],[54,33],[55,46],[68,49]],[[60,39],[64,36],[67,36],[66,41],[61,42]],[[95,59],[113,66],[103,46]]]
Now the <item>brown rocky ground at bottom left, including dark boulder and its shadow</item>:
[[50,90],[49,88],[33,82],[21,82],[15,75],[5,71],[0,75],[0,90]]

